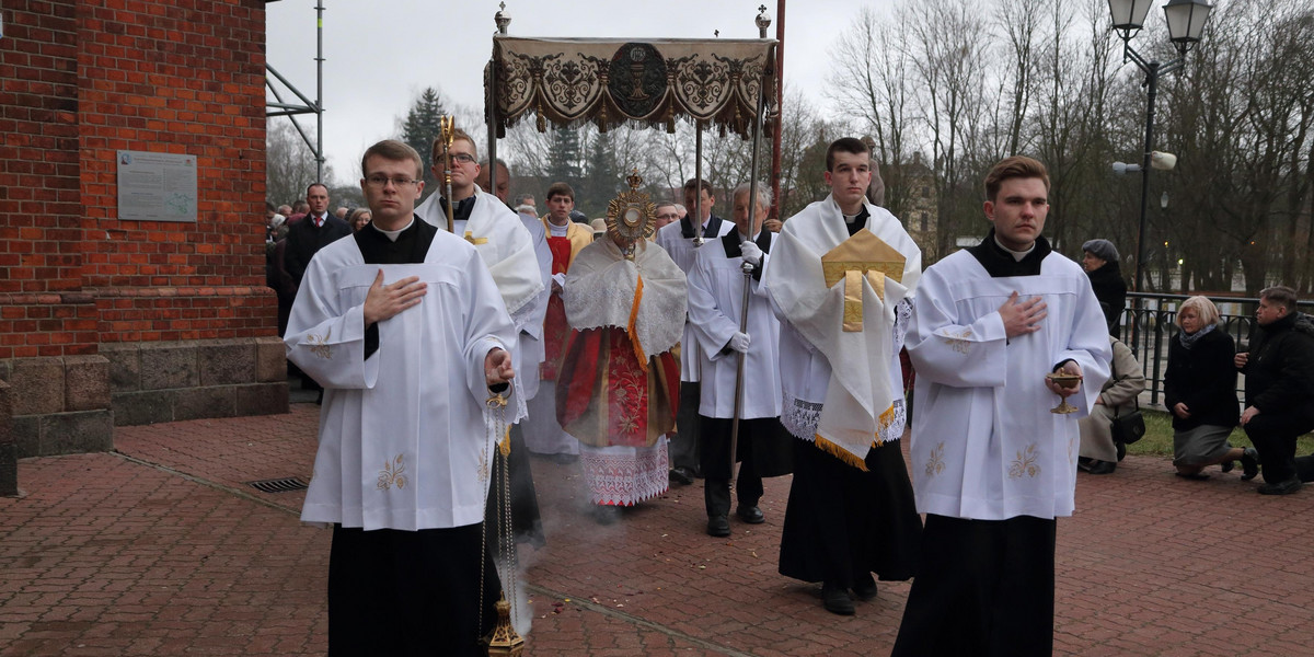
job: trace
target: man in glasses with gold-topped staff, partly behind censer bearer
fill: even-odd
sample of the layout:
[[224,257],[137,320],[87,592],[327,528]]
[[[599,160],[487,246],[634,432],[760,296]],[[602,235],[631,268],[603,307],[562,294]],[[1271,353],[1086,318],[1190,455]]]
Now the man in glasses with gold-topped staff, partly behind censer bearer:
[[[442,137],[434,139],[430,171],[435,180],[444,177],[444,156],[452,167],[452,198],[456,200],[456,214],[452,219],[452,233],[456,237],[474,244],[484,264],[493,275],[502,301],[506,302],[506,311],[515,322],[518,340],[511,350],[511,364],[516,372],[533,369],[533,356],[524,359],[537,347],[535,335],[541,331],[543,311],[545,305],[543,297],[543,275],[539,259],[535,254],[535,243],[530,231],[520,218],[494,194],[486,193],[476,184],[484,176],[484,167],[478,163],[478,150],[474,139],[464,130],[455,130],[451,152]],[[506,180],[507,175],[499,175],[499,180]],[[443,187],[443,185],[440,185]],[[430,194],[415,208],[415,214],[422,219],[447,230],[447,208],[451,205],[440,194],[447,189],[439,189]],[[519,385],[533,385],[530,380],[535,377],[520,377]],[[526,415],[526,405],[532,394],[522,390],[516,396],[515,403],[520,407],[519,415]],[[498,461],[501,464],[501,461]],[[543,522],[539,516],[539,498],[533,489],[533,474],[530,472],[530,456],[524,448],[524,436],[519,431],[511,432],[511,453],[507,459],[511,472],[511,526],[518,541],[543,545]],[[493,485],[501,490],[501,465],[494,470]],[[501,507],[495,497],[489,505],[491,519],[501,516]],[[491,524],[498,527],[497,523]]]

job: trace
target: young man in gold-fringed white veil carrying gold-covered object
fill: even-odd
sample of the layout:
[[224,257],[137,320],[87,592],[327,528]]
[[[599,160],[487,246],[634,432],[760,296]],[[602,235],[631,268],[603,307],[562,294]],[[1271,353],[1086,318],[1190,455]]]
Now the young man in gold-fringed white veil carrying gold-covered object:
[[784,222],[762,283],[781,318],[781,423],[796,439],[781,574],[823,582],[825,608],[851,615],[854,597],[876,595],[872,573],[908,579],[916,562],[899,350],[921,250],[866,202],[862,142],[830,145],[825,180],[830,196]]

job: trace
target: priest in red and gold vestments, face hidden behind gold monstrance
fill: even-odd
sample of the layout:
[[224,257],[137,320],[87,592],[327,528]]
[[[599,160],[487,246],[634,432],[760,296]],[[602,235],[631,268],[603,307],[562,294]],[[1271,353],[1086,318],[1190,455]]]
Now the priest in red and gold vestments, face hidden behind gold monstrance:
[[653,231],[654,205],[633,173],[607,208],[607,235],[582,251],[564,286],[570,342],[557,374],[557,420],[579,440],[579,464],[603,524],[669,487],[666,432],[675,424],[685,332],[685,272]]

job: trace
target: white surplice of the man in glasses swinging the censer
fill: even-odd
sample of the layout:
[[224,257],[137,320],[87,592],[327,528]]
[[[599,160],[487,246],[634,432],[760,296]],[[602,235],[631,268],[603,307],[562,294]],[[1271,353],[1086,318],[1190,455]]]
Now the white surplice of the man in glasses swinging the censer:
[[[519,225],[519,221],[516,222]],[[365,359],[364,301],[419,276],[419,305],[378,322]],[[365,264],[355,239],[321,250],[285,338],[288,359],[325,386],[319,449],[301,519],[365,530],[484,520],[494,439],[484,359],[516,331],[474,247],[438,231],[420,264]],[[519,419],[509,405],[506,422]]]

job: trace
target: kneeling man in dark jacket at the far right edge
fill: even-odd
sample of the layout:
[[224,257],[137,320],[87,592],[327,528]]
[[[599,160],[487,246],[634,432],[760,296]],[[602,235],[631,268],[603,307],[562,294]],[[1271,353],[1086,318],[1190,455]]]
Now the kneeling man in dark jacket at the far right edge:
[[1259,332],[1250,351],[1235,357],[1246,374],[1240,424],[1259,449],[1264,495],[1301,489],[1296,438],[1314,430],[1314,323],[1296,310],[1296,290],[1285,285],[1259,293]]

